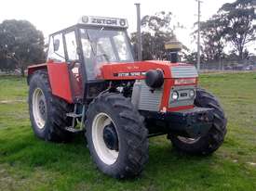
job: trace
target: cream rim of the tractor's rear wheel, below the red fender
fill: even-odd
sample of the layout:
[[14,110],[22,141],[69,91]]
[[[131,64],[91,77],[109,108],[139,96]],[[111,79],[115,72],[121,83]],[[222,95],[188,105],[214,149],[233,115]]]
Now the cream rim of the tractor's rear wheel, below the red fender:
[[33,94],[33,116],[38,129],[44,129],[47,121],[47,102],[43,91],[36,88]]

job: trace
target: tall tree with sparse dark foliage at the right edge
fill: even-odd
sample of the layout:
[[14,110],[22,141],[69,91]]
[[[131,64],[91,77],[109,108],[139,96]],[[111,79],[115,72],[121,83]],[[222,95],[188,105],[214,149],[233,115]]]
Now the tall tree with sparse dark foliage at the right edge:
[[240,59],[245,57],[247,45],[256,39],[256,14],[252,4],[253,0],[236,0],[231,4],[224,4],[219,10],[224,39],[230,42]]

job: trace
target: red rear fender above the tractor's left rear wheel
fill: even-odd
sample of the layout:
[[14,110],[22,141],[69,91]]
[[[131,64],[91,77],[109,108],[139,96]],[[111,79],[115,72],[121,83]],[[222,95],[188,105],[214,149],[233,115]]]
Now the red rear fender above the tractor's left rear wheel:
[[54,63],[49,61],[45,64],[30,66],[28,67],[28,77],[30,77],[35,70],[42,69],[47,69],[52,94],[63,98],[68,103],[73,103],[67,63]]

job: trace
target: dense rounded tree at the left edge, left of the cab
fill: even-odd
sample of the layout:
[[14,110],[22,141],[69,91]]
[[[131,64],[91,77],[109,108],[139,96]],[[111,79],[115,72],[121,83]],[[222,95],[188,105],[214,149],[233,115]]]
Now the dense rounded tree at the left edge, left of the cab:
[[3,21],[0,24],[0,56],[11,60],[24,76],[28,65],[45,61],[43,33],[27,20]]

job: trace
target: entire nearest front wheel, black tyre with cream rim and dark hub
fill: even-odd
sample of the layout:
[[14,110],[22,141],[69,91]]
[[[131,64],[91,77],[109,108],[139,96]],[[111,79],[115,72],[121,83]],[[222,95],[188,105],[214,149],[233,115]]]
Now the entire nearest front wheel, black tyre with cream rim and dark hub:
[[89,104],[87,141],[97,167],[115,178],[141,173],[148,159],[148,131],[128,98],[105,93]]

